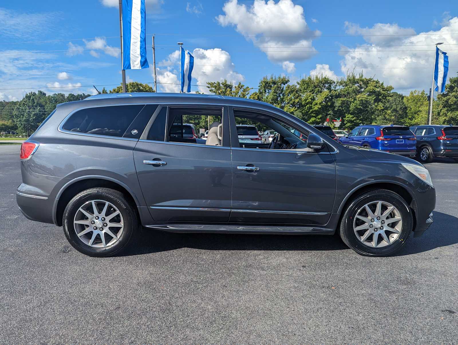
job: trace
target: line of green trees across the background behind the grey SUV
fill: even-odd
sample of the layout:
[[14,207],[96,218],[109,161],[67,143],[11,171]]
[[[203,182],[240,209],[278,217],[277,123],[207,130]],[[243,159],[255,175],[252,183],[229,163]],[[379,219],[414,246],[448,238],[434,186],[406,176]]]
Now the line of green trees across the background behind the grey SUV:
[[[348,73],[333,80],[326,76],[308,76],[297,82],[289,77],[263,77],[255,91],[242,83],[227,80],[207,82],[208,93],[256,99],[273,104],[310,124],[323,124],[327,119],[341,120],[340,128],[352,129],[361,124],[395,124],[414,126],[428,122],[429,96],[412,91],[404,96],[393,92],[363,73]],[[120,93],[121,86],[102,93]],[[127,92],[154,92],[148,84],[130,82]],[[89,94],[46,95],[43,91],[27,93],[20,101],[0,102],[0,132],[33,133],[57,104],[85,99]],[[433,100],[433,124],[458,124],[458,77],[450,78],[445,93]],[[196,124],[200,125],[200,124]],[[333,122],[330,121],[333,126]]]

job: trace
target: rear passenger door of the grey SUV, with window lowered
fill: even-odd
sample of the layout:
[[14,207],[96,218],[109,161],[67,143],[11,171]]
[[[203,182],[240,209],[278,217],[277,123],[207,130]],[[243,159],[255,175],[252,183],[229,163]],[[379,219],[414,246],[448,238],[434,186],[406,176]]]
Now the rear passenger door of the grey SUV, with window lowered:
[[[163,106],[150,122],[134,160],[153,219],[164,224],[227,222],[232,187],[227,108]],[[207,130],[208,123],[213,129],[207,140],[186,135],[184,126]]]

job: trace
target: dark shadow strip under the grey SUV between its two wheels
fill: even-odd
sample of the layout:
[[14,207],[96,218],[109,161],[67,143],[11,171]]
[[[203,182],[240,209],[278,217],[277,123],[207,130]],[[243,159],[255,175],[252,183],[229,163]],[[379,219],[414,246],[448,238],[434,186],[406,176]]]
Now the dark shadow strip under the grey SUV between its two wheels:
[[179,234],[143,229],[142,235],[121,255],[164,252],[179,248],[267,251],[349,249],[337,235]]

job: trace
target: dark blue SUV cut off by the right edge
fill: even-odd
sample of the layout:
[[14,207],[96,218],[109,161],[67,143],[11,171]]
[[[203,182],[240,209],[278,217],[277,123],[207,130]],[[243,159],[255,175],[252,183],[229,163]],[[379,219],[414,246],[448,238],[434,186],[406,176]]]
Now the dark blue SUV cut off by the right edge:
[[430,163],[434,157],[458,159],[458,126],[423,125],[410,127],[417,137],[418,159]]

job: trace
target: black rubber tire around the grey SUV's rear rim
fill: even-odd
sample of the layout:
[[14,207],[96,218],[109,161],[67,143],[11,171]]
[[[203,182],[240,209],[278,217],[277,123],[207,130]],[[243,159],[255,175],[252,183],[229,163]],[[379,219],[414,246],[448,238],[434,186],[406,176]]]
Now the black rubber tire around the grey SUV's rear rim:
[[[123,217],[124,229],[121,237],[111,246],[105,248],[91,247],[81,241],[78,238],[78,235],[76,235],[73,225],[75,214],[78,211],[78,208],[92,200],[104,200],[114,204]],[[113,255],[114,253],[122,250],[122,248],[124,248],[124,246],[130,240],[134,230],[134,221],[131,214],[131,208],[128,206],[128,203],[122,197],[105,191],[85,191],[77,194],[73,199],[71,199],[65,208],[62,225],[67,240],[76,250],[89,256],[100,257]]]

